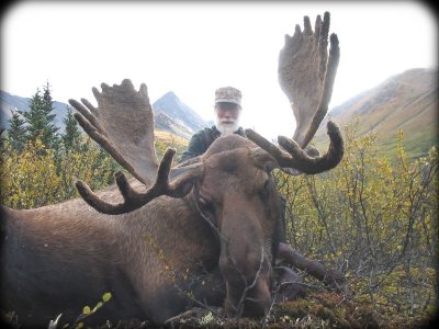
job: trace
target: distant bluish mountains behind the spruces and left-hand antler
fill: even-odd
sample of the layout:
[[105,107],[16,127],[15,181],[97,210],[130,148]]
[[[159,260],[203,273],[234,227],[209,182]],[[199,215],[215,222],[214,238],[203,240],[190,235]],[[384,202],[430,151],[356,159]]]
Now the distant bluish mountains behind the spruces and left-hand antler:
[[[1,126],[8,128],[8,120],[12,116],[10,110],[29,111],[31,99],[0,91],[0,101]],[[65,128],[63,120],[67,114],[67,106],[69,105],[66,103],[54,102],[54,113],[56,114],[54,122],[60,132],[64,132]],[[159,98],[153,104],[153,109],[156,131],[170,133],[183,139],[190,139],[195,132],[209,125],[194,110],[181,102],[172,91]]]

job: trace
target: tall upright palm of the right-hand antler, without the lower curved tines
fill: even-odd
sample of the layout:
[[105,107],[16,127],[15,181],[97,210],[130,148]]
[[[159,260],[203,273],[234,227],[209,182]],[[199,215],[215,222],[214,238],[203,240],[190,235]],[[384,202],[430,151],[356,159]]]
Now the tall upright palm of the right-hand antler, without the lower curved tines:
[[295,120],[293,139],[306,147],[328,111],[333,86],[339,63],[339,45],[336,34],[328,34],[330,15],[318,15],[315,31],[309,18],[304,18],[304,31],[295,26],[293,36],[285,35],[285,45],[279,54],[279,83],[286,94]]

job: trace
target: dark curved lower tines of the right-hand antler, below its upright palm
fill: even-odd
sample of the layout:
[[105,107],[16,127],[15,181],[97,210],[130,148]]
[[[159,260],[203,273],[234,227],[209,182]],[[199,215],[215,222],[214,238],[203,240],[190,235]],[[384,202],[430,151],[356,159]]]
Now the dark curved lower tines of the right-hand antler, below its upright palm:
[[293,169],[315,174],[335,168],[341,161],[345,152],[340,129],[337,125],[329,121],[327,129],[330,139],[328,151],[315,158],[309,157],[297,143],[283,136],[279,136],[279,145],[284,150],[252,129],[246,129],[246,136],[270,154],[283,170],[290,172],[289,169]]

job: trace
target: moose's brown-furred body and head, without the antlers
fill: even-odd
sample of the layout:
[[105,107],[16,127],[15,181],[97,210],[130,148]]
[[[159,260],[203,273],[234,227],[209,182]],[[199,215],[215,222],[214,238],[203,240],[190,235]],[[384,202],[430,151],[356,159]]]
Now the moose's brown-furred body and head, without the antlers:
[[[24,326],[46,327],[59,314],[72,325],[85,306],[111,292],[89,324],[162,324],[195,305],[184,295],[191,292],[229,315],[263,315],[280,204],[251,147],[239,136],[217,139],[189,195],[161,196],[128,214],[103,215],[82,200],[3,207],[2,308]],[[116,195],[115,189],[100,193],[111,202]]]

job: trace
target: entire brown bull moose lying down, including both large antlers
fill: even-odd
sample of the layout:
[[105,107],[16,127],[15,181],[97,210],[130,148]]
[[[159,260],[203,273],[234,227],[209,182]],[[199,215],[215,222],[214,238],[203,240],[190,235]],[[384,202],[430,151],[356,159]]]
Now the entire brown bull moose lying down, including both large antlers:
[[98,106],[70,100],[82,128],[128,175],[115,173],[116,184],[97,193],[78,180],[81,197],[60,204],[2,206],[2,309],[14,311],[24,328],[47,327],[60,314],[71,325],[83,306],[110,292],[112,299],[88,324],[137,318],[160,325],[200,304],[229,316],[267,314],[273,284],[297,276],[277,266],[285,252],[271,173],[316,174],[344,155],[330,121],[327,152],[305,151],[327,113],[339,61],[338,37],[330,35],[328,50],[328,31],[326,12],[314,31],[305,16],[303,31],[296,25],[285,35],[279,82],[297,125],[279,145],[247,129],[247,138],[221,137],[202,156],[172,167],[175,149],[158,161],[144,83],[138,91],[127,79],[102,83],[101,91],[92,89]]

